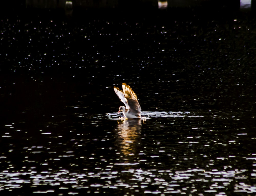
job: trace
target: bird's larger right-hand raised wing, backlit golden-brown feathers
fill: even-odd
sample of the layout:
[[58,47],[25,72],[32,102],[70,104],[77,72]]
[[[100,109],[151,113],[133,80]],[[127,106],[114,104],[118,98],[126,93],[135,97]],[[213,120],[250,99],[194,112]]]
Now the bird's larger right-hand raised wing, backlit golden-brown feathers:
[[[124,99],[126,100],[127,105],[128,105],[128,108],[125,105],[126,108],[129,109],[129,112],[131,114],[133,114],[135,116],[140,115],[141,114],[141,106],[138,102],[136,94],[134,93],[134,91],[131,89],[131,87],[129,85],[126,85],[125,83],[123,83],[122,87],[123,87],[123,92],[122,91],[121,92],[124,94]],[[118,95],[118,97],[119,97],[119,95]]]

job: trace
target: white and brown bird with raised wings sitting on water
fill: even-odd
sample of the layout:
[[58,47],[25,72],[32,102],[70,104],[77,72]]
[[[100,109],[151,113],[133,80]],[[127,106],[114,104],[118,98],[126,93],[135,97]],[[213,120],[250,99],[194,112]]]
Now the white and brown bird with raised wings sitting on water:
[[119,107],[119,112],[123,112],[126,119],[141,118],[141,106],[138,102],[137,96],[131,87],[125,83],[122,84],[123,90],[114,86],[114,91],[125,105]]

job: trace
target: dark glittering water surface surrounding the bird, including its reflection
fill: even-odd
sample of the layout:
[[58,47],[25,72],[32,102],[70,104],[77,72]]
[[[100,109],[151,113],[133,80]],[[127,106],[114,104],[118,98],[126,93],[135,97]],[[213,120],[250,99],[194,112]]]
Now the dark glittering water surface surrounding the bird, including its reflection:
[[3,17],[1,195],[255,194],[254,18],[166,17]]

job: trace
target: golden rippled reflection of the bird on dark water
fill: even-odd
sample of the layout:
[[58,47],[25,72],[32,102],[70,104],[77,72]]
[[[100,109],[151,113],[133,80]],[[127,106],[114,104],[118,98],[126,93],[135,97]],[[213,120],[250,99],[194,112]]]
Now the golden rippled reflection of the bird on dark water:
[[141,119],[118,121],[116,144],[121,150],[121,158],[125,163],[134,162],[141,144]]

